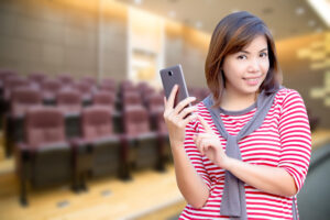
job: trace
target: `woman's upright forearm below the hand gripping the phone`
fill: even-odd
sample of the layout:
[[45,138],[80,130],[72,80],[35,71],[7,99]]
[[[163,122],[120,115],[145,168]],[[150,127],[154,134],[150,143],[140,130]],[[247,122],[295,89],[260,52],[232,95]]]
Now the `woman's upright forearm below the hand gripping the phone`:
[[177,186],[186,201],[201,208],[209,197],[209,189],[188,158],[183,144],[172,143]]

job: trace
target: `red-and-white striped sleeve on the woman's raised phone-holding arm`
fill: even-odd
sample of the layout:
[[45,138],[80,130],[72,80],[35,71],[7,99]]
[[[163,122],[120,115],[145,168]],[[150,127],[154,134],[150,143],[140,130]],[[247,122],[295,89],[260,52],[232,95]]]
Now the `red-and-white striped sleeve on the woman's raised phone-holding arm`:
[[211,180],[209,174],[207,173],[207,169],[204,165],[202,156],[194,142],[194,135],[197,134],[196,131],[197,127],[198,127],[197,121],[187,124],[186,135],[185,135],[185,150],[196,172],[199,174],[199,176],[202,178],[202,180],[210,189]]

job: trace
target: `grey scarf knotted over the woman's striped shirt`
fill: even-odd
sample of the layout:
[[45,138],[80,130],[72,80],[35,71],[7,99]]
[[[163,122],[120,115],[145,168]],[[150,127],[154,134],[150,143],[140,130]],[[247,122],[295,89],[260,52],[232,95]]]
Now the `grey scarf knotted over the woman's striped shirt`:
[[[223,122],[220,118],[220,108],[212,108],[212,96],[210,95],[204,99],[202,102],[209,110],[213,123],[216,124],[221,136],[227,140],[226,154],[229,157],[242,161],[240,146],[238,144],[239,141],[248,136],[262,125],[265,117],[267,116],[273,105],[277,91],[278,89],[268,96],[265,94],[264,90],[260,94],[256,100],[256,106],[254,105],[254,107],[256,107],[256,112],[235,136],[230,135],[227,132]],[[223,216],[229,216],[231,217],[231,219],[235,220],[248,219],[244,183],[238,179],[228,170],[226,170],[224,176],[224,189],[222,195],[220,213]],[[295,199],[293,204],[293,215],[294,219],[297,219]]]

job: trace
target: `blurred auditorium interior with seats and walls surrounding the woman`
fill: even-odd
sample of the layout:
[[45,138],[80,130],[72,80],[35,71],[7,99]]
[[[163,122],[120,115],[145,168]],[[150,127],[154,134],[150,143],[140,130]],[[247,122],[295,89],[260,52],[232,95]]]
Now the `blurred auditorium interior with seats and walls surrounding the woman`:
[[308,110],[300,219],[329,219],[329,0],[1,0],[0,219],[177,219],[158,70],[182,64],[202,100],[211,33],[241,10]]

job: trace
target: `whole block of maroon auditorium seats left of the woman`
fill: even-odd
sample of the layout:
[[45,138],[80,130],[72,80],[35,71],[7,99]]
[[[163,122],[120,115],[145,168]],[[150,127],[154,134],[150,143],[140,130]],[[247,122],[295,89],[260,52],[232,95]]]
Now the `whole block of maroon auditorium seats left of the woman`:
[[[15,77],[30,82],[12,84]],[[135,168],[165,169],[170,152],[164,95],[147,84],[80,79],[92,88],[82,92],[66,79],[70,82],[62,82],[51,96],[47,77],[4,78],[4,145],[9,156],[12,151],[15,155],[23,205],[29,184],[40,187],[69,179],[79,190],[88,176],[116,174],[130,179]]]

